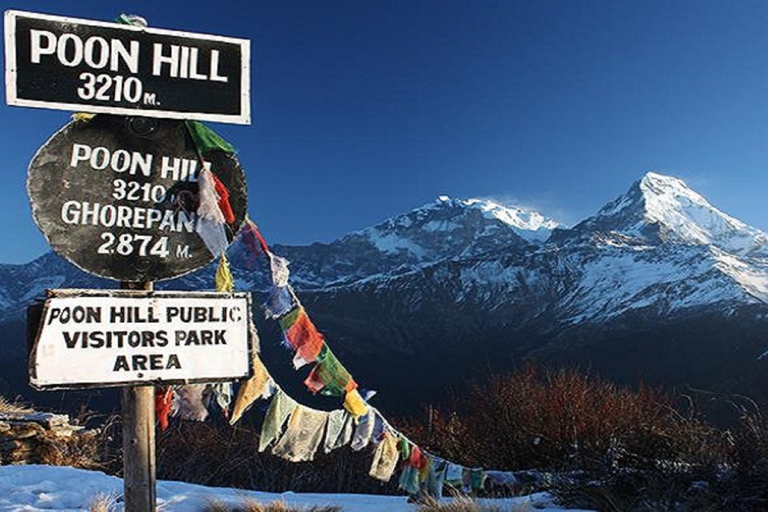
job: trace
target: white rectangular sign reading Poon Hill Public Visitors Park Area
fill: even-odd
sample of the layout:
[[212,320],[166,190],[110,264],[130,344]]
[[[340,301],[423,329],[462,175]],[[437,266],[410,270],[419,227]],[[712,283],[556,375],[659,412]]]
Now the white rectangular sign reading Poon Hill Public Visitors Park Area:
[[29,361],[38,389],[234,380],[250,372],[250,295],[51,290]]

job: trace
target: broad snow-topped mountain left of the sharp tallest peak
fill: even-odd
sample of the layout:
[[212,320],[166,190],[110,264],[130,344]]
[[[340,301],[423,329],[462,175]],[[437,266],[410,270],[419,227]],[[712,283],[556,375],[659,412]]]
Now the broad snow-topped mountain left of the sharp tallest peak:
[[527,249],[540,245],[558,226],[537,212],[505,207],[487,199],[440,196],[432,203],[330,244],[276,245],[274,252],[292,262],[297,287],[317,290],[360,279],[401,275],[442,260]]

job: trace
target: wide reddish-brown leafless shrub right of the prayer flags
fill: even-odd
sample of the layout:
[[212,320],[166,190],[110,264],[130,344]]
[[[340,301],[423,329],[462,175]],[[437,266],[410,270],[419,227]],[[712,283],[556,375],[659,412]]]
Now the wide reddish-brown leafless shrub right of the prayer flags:
[[453,410],[430,409],[409,432],[467,466],[574,470],[715,464],[722,433],[658,389],[619,387],[574,369],[527,365],[476,382]]

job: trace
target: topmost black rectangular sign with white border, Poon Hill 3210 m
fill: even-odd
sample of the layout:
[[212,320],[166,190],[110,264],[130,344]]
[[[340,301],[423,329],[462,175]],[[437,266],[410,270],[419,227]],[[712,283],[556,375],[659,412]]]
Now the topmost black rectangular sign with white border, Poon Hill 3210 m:
[[250,124],[250,41],[5,13],[6,102]]

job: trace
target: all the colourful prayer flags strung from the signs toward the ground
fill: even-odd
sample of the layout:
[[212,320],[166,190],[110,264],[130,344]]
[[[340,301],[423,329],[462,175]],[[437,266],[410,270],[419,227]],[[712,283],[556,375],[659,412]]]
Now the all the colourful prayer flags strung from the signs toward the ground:
[[[229,191],[206,167],[203,154],[213,150],[234,153],[235,150],[203,123],[187,121],[185,124],[203,169],[198,182],[198,215],[202,225],[199,234],[211,252],[220,255],[215,274],[216,290],[233,293],[235,281],[226,256],[228,242],[224,229],[234,223],[235,217],[229,203]],[[298,369],[314,363],[304,385],[313,393],[343,396],[344,401],[343,408],[328,412],[311,409],[288,396],[259,358],[258,337],[253,331],[252,376],[238,389],[230,424],[237,422],[256,400],[272,397],[262,423],[259,451],[274,443],[273,454],[291,461],[308,461],[314,458],[321,445],[327,453],[347,444],[361,450],[373,443],[376,449],[369,475],[389,481],[400,463],[403,469],[399,486],[409,494],[437,498],[442,494],[444,483],[461,485],[463,490],[479,489],[484,482],[484,472],[463,468],[427,453],[367,403],[352,375],[331,351],[325,336],[309,318],[289,284],[288,260],[270,251],[258,227],[247,216],[239,240],[251,258],[249,264],[259,260],[267,264],[271,286],[263,309],[267,318],[279,323],[284,345],[294,351],[294,367]],[[181,412],[181,416],[188,419],[207,416],[205,403],[211,395],[225,414],[232,399],[231,383],[183,386],[178,393],[176,391],[174,388],[158,388],[156,392],[156,409],[162,429],[167,428],[168,416],[174,409],[178,411],[177,403],[182,402],[179,398],[183,396],[187,402],[196,397],[193,402],[200,403],[196,410]]]

